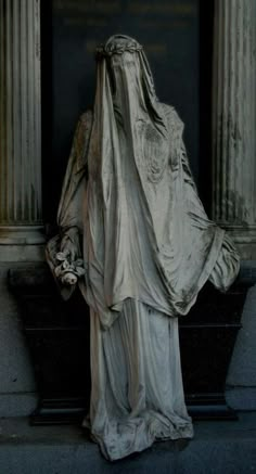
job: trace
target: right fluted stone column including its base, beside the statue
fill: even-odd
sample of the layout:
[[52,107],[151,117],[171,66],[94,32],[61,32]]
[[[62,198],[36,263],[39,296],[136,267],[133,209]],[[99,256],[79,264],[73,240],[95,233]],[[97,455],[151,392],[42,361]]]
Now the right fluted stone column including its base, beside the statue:
[[256,259],[256,1],[216,0],[213,218]]

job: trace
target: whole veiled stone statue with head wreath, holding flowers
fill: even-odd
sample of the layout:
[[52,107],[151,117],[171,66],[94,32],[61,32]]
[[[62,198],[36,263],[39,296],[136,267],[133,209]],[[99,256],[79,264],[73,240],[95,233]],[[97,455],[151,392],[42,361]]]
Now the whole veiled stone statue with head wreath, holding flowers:
[[158,102],[142,47],[97,50],[93,112],[79,119],[47,258],[64,298],[90,307],[85,420],[108,460],[191,438],[178,317],[207,280],[226,291],[238,254],[199,198],[174,107]]

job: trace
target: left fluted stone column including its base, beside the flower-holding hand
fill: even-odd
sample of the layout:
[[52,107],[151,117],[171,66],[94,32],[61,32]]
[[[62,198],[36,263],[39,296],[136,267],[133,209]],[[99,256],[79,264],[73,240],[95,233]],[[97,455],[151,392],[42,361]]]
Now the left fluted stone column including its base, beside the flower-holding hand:
[[39,10],[0,0],[0,260],[38,259],[44,241]]

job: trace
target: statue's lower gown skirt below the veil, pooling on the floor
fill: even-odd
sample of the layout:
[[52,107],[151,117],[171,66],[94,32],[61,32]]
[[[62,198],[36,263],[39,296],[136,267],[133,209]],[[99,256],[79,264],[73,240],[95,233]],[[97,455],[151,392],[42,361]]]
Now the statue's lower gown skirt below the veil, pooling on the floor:
[[111,461],[156,440],[191,438],[180,368],[178,318],[145,304],[125,302],[120,317],[102,331],[91,316],[90,423]]

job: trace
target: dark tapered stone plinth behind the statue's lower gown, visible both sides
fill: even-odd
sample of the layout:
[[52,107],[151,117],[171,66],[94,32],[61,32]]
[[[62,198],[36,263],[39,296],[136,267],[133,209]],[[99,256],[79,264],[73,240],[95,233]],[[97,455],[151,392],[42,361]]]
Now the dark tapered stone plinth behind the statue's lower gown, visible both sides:
[[[17,295],[35,368],[39,405],[31,423],[80,423],[90,401],[89,309],[77,292],[64,303],[43,264],[9,274]],[[180,351],[187,406],[193,420],[234,420],[225,384],[248,287],[239,280],[226,294],[207,283],[180,319]]]

